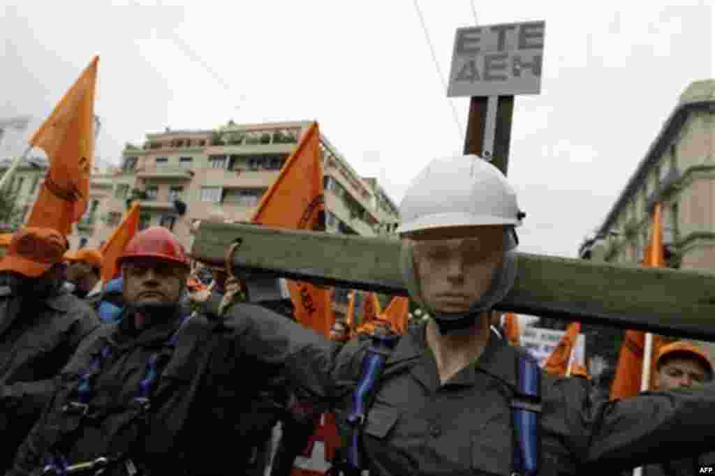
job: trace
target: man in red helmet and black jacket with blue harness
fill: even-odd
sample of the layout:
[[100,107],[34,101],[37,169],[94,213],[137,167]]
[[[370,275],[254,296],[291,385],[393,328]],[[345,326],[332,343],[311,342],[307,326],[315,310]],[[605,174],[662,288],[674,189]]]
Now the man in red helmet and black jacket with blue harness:
[[185,307],[189,259],[167,229],[137,234],[119,265],[121,319],[61,372],[9,474],[244,474],[266,432],[251,402],[274,367],[245,356],[230,326]]

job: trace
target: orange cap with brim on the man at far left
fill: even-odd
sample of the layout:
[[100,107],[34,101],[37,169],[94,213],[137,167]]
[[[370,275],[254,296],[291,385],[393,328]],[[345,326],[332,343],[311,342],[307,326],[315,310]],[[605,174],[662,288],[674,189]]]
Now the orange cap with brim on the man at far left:
[[26,277],[40,277],[61,263],[67,251],[66,239],[51,228],[28,227],[12,235],[0,271],[14,271]]

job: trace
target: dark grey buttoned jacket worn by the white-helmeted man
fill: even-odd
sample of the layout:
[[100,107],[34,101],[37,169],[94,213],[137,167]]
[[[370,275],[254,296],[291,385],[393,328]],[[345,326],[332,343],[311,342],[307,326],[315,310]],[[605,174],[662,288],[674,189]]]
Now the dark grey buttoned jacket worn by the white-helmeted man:
[[[344,347],[265,309],[232,308],[237,344],[330,402],[351,407],[368,342]],[[405,334],[390,355],[368,412],[363,452],[371,476],[509,475],[511,395],[521,349],[490,339],[478,362],[440,385],[425,326]],[[596,400],[586,379],[542,374],[541,475],[599,474],[678,460],[715,448],[715,384]]]

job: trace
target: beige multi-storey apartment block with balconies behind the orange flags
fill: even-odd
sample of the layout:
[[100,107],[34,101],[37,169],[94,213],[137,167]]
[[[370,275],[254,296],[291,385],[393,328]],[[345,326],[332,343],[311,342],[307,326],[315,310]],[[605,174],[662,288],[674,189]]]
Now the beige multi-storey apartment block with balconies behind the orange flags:
[[[167,227],[187,247],[195,219],[217,213],[231,221],[250,219],[310,124],[230,122],[215,130],[167,128],[147,134],[141,147],[127,144],[120,167],[104,167],[92,174],[89,208],[68,237],[71,247],[100,247],[121,221],[132,197],[142,197],[142,229]],[[393,234],[398,207],[377,180],[360,177],[322,134],[320,149],[327,232]],[[0,162],[0,171],[10,163]],[[26,211],[37,198],[46,168],[44,159],[30,159],[16,172],[11,187],[19,192]],[[187,204],[184,214],[175,200]],[[347,302],[347,292],[335,294],[339,302]]]

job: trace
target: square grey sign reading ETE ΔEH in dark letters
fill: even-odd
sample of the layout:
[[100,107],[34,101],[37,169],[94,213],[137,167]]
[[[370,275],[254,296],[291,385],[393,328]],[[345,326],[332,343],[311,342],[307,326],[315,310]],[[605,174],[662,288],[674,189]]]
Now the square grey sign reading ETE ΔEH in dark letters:
[[457,29],[448,97],[538,94],[544,21]]

